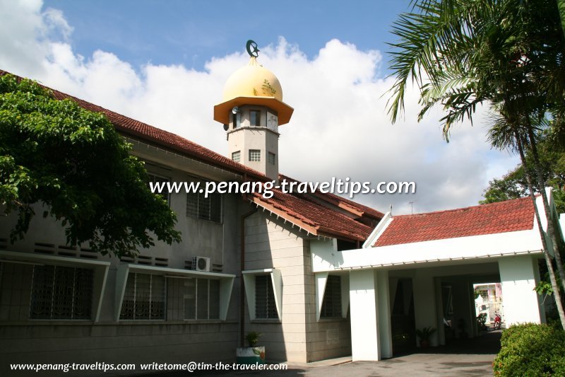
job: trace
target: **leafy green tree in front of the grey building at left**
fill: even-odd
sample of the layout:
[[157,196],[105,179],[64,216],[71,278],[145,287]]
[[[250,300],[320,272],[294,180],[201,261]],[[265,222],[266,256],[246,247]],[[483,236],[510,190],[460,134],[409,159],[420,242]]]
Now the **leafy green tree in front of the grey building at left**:
[[64,226],[69,245],[117,256],[179,242],[176,215],[153,195],[142,161],[105,115],[56,100],[29,80],[0,77],[0,209],[16,213],[11,241],[35,211]]

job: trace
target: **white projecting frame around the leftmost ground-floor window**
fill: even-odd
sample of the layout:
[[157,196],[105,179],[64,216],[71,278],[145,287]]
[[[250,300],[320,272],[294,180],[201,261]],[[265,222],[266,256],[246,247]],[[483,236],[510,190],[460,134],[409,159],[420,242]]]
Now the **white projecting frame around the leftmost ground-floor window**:
[[108,269],[110,262],[103,260],[89,260],[76,257],[60,257],[58,255],[40,255],[34,253],[21,253],[17,251],[0,250],[0,262],[21,263],[31,265],[56,265],[64,267],[80,267],[94,269],[93,282],[93,308],[94,322],[100,320],[100,310],[102,309],[102,298],[108,279]]

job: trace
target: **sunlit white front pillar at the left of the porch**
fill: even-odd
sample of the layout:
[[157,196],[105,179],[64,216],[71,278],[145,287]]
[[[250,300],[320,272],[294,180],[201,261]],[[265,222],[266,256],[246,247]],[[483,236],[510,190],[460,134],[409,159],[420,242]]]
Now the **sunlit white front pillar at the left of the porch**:
[[372,269],[350,272],[351,355],[353,361],[378,361],[379,311],[376,274]]

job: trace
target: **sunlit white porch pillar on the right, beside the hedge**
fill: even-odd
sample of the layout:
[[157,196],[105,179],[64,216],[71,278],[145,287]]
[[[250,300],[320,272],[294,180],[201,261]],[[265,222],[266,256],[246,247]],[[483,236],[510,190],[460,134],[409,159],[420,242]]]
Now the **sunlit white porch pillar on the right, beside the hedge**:
[[535,287],[537,260],[530,255],[499,259],[502,302],[506,326],[517,323],[541,323],[540,309]]

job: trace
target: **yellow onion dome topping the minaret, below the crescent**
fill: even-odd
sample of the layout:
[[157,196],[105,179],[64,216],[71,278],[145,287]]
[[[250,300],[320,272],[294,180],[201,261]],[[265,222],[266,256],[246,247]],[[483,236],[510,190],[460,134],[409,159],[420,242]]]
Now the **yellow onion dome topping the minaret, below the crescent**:
[[235,71],[224,86],[224,101],[238,97],[270,97],[282,101],[283,88],[273,72],[251,57],[249,64]]

